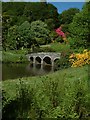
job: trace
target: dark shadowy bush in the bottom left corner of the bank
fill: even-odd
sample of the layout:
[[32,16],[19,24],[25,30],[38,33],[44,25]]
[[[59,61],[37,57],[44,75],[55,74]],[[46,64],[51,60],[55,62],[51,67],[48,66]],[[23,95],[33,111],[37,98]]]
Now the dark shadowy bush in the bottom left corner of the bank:
[[26,84],[19,80],[17,85],[16,98],[10,100],[6,98],[6,93],[3,91],[3,120],[27,118],[28,111],[31,110],[33,104],[33,90],[29,91]]

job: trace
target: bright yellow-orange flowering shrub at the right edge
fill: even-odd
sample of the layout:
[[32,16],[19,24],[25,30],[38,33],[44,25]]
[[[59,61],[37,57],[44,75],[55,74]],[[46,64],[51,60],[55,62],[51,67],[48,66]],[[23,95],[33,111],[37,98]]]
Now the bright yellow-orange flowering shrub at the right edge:
[[71,54],[69,57],[71,67],[80,67],[86,64],[90,64],[90,51],[85,49],[83,53]]

